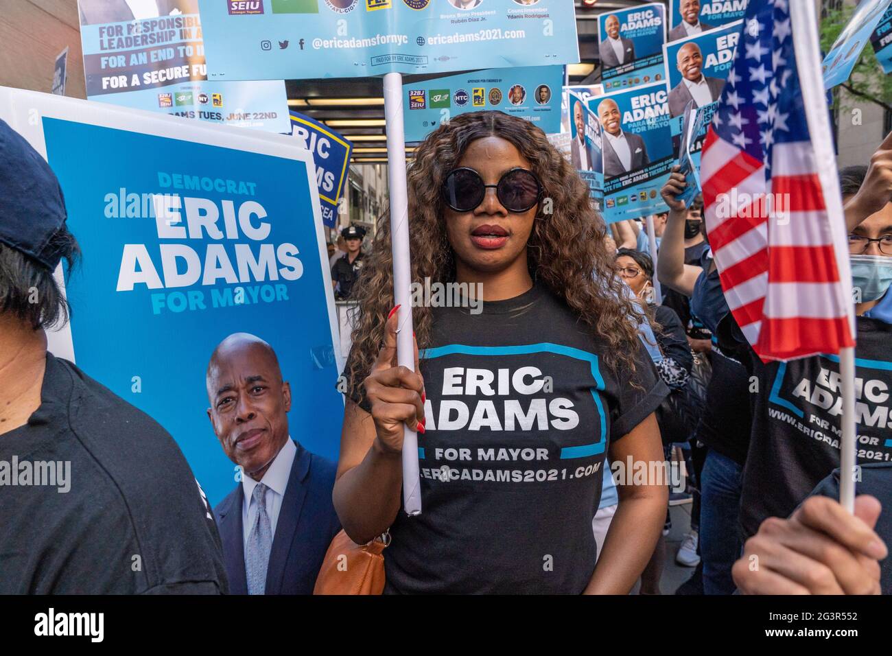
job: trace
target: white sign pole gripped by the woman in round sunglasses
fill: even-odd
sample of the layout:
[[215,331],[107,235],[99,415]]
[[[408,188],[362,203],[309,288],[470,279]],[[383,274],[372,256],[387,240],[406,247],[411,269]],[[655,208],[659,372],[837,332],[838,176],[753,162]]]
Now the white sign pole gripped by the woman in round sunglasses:
[[[409,192],[406,185],[406,135],[402,125],[402,75],[384,73],[384,123],[387,128],[387,178],[390,185],[390,228],[393,253],[393,300],[397,311],[397,364],[415,370],[409,263]],[[402,428],[402,503],[407,515],[421,514],[418,436]]]

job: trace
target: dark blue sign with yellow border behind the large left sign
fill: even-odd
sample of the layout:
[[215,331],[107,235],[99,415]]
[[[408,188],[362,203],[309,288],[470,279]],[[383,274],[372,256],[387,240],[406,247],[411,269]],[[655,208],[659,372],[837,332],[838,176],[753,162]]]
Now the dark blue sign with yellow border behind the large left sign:
[[292,137],[301,140],[301,146],[313,154],[316,164],[316,184],[322,210],[322,222],[334,228],[337,221],[337,203],[347,184],[347,170],[353,145],[347,137],[335,132],[324,123],[298,112],[291,112]]

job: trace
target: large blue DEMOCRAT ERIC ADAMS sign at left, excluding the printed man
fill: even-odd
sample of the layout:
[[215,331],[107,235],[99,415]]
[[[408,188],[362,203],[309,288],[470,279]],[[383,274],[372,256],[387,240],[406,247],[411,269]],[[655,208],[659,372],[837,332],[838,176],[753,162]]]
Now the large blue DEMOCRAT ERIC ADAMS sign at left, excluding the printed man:
[[2,87],[0,118],[45,154],[82,251],[51,350],[166,428],[211,504],[237,472],[207,417],[205,371],[235,332],[276,351],[293,438],[336,457],[340,354],[310,153],[292,137]]

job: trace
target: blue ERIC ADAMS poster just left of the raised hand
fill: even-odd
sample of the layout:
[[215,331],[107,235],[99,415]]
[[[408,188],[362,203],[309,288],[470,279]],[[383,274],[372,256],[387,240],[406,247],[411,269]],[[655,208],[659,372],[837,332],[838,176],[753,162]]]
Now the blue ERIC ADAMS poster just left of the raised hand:
[[659,191],[675,151],[666,95],[654,82],[589,100],[602,128],[607,223],[667,211]]

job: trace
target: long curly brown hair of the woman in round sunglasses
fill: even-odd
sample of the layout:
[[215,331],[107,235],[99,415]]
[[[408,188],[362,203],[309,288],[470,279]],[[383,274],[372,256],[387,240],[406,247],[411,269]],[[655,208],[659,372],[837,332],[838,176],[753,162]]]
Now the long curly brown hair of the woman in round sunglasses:
[[[422,282],[452,282],[455,262],[446,234],[441,187],[467,146],[483,137],[511,143],[532,165],[544,189],[527,242],[527,262],[533,280],[562,299],[591,332],[607,345],[604,361],[614,370],[635,370],[638,349],[635,325],[640,311],[629,301],[625,285],[614,271],[614,253],[607,251],[607,227],[591,206],[589,188],[558,153],[541,129],[504,112],[469,112],[435,129],[418,146],[408,170],[409,249],[411,278]],[[547,201],[550,200],[550,203]],[[543,208],[550,214],[543,213]],[[359,308],[352,313],[353,347],[347,362],[347,395],[361,398],[362,381],[371,372],[384,344],[384,322],[393,306],[390,220],[378,220],[371,253],[353,287]],[[631,320],[632,318],[635,320]],[[418,349],[431,335],[428,307],[412,310]]]

